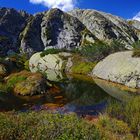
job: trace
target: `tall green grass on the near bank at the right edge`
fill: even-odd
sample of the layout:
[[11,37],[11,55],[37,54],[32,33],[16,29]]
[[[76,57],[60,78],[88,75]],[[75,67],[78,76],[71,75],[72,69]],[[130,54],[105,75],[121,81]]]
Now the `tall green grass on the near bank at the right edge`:
[[140,97],[132,98],[128,103],[111,102],[106,110],[113,118],[123,120],[131,128],[136,136],[140,138]]

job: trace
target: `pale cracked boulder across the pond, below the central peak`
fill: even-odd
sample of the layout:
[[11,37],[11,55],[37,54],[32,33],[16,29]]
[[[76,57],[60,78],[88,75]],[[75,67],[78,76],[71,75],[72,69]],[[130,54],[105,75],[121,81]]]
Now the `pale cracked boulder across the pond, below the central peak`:
[[70,56],[70,53],[57,53],[47,54],[42,57],[41,52],[35,53],[29,60],[29,67],[31,72],[45,72],[48,69],[63,71],[67,63],[66,60]]

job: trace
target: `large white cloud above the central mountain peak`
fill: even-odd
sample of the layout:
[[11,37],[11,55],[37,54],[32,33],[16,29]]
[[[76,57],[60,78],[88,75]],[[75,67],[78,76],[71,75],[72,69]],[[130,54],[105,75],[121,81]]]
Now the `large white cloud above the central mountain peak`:
[[72,10],[76,0],[29,0],[33,4],[43,4],[48,8],[59,8],[63,11]]

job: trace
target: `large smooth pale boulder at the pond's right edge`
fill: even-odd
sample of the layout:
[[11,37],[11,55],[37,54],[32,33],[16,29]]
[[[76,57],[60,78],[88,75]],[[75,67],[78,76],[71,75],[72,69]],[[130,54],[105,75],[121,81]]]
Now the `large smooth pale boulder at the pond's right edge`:
[[132,57],[132,51],[111,54],[95,66],[92,74],[131,88],[140,88],[140,58]]

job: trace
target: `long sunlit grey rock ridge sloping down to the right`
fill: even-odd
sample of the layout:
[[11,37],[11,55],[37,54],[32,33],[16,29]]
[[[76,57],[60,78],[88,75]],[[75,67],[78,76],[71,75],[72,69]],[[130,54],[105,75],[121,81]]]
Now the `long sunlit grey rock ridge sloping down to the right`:
[[70,14],[77,17],[99,40],[105,42],[118,40],[128,49],[131,49],[132,43],[138,40],[133,27],[118,16],[81,9],[75,9]]

